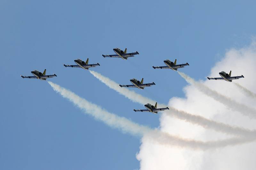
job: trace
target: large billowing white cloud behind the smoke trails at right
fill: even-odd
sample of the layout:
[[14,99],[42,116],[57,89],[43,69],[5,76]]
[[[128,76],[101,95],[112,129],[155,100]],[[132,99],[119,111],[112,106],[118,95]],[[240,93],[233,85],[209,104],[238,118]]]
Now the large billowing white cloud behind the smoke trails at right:
[[[208,79],[200,81],[205,87],[217,91],[222,96],[231,99],[232,102],[240,103],[239,107],[245,106],[244,110],[241,108],[236,110],[236,104],[227,104],[227,101],[224,101],[223,98],[221,100],[218,100],[217,97],[213,99],[211,95],[206,95],[204,91],[202,93],[202,90],[198,90],[198,87],[195,85],[188,85],[184,88],[186,98],[173,97],[170,99],[169,105],[178,110],[184,110],[217,122],[241,126],[251,130],[256,129],[256,120],[250,118],[254,117],[255,99],[234,84],[234,82],[239,82],[242,87],[255,93],[255,66],[256,43],[252,42],[248,47],[228,50],[223,59],[212,68],[209,75],[209,77],[216,77],[220,71],[229,72],[232,70],[232,75],[243,74],[244,79],[234,80],[232,83],[227,81],[209,81]],[[193,75],[190,76],[193,77]],[[250,108],[250,113],[247,112],[248,108]],[[202,126],[181,121],[167,114],[169,113],[164,112],[160,118],[161,131],[196,140],[221,140],[230,137],[227,134],[204,129]],[[140,152],[137,154],[141,170],[241,170],[255,169],[256,166],[255,142],[207,151],[159,145],[152,142],[146,136],[142,138],[141,142]]]

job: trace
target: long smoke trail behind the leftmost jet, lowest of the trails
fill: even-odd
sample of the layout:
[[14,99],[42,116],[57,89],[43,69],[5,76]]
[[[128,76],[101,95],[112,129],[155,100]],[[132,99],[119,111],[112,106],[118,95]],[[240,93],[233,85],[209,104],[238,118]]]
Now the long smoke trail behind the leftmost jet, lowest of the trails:
[[120,129],[125,133],[127,132],[135,136],[146,135],[147,138],[161,145],[188,147],[193,150],[207,150],[219,147],[226,147],[229,145],[243,144],[253,140],[253,138],[231,138],[227,140],[202,142],[192,139],[180,138],[158,130],[150,129],[147,126],[136,124],[125,117],[119,117],[115,114],[109,113],[108,111],[100,108],[98,105],[88,102],[87,100],[77,96],[75,93],[63,87],[60,87],[59,85],[52,83],[51,81],[48,81],[48,83],[56,92],[60,93],[61,96],[67,98],[80,109],[84,110],[85,113],[90,114],[94,118],[103,121],[110,127]]

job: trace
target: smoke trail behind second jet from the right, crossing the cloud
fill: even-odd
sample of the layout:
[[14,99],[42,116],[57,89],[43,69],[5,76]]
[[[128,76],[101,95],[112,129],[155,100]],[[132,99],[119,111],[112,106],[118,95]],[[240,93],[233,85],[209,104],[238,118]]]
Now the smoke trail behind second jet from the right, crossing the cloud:
[[229,109],[234,111],[239,111],[241,114],[248,116],[250,118],[256,118],[256,110],[250,108],[244,104],[238,103],[229,97],[223,96],[215,90],[212,90],[205,86],[203,83],[196,82],[193,78],[189,77],[185,73],[179,72],[181,77],[183,77],[188,83],[194,85],[199,91],[203,92],[205,95],[212,97],[214,100],[225,104]]

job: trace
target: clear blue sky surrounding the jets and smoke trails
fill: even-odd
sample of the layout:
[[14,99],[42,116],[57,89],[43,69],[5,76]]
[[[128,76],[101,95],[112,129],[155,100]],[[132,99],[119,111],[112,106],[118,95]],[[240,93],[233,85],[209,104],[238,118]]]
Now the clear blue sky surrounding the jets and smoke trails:
[[[22,79],[32,70],[109,112],[158,127],[159,115],[109,89],[88,71],[66,68],[80,58],[119,84],[144,78],[136,92],[168,103],[184,96],[176,72],[154,70],[163,60],[205,79],[231,47],[256,34],[254,1],[0,1],[0,169],[137,169],[140,138],[123,134],[76,108],[46,81]],[[113,48],[138,51],[128,60],[103,58]],[[221,71],[221,70],[220,70]],[[229,71],[229,70],[224,70]],[[218,74],[216,74],[218,75]]]

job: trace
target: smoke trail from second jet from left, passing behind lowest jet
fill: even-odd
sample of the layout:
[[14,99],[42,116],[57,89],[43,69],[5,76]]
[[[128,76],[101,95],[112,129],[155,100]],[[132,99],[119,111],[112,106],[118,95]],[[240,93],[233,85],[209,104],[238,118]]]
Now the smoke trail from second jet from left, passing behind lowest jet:
[[[147,97],[143,97],[134,91],[131,91],[129,89],[120,88],[120,86],[115,82],[110,80],[108,77],[105,77],[101,75],[100,73],[97,73],[95,71],[90,71],[92,75],[94,75],[97,79],[99,79],[101,82],[106,84],[109,88],[114,89],[115,91],[119,92],[120,94],[124,95],[125,97],[129,98],[133,102],[137,102],[140,104],[145,104],[147,102],[155,103],[155,101],[148,99]],[[164,104],[158,104],[159,107],[166,107]],[[186,122],[200,125],[204,128],[213,129],[215,131],[220,131],[226,134],[233,134],[233,135],[239,135],[239,136],[255,136],[256,137],[256,131],[250,131],[248,129],[240,128],[240,127],[234,127],[227,124],[223,124],[220,122],[215,122],[209,119],[206,119],[201,116],[196,116],[189,114],[185,111],[177,110],[173,107],[170,107],[170,110],[165,111],[164,113],[167,113],[167,116],[176,117],[180,120],[185,120]]]

